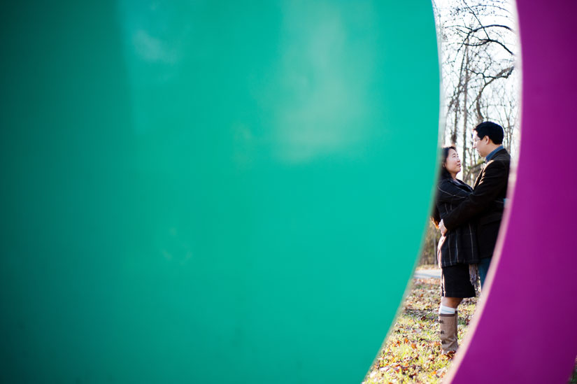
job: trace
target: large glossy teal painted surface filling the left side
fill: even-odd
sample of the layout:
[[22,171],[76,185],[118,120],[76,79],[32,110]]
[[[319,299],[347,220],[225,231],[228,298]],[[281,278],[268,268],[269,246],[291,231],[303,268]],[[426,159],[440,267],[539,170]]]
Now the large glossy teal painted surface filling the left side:
[[0,17],[1,381],[362,381],[427,220],[430,2]]

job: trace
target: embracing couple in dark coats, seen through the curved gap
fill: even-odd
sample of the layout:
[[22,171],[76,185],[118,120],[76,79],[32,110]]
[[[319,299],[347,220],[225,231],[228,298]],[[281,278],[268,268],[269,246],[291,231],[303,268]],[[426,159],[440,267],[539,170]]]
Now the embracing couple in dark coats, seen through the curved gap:
[[441,151],[433,221],[443,235],[437,248],[443,353],[457,350],[457,306],[465,297],[475,297],[478,277],[481,286],[485,283],[497,243],[511,162],[501,145],[503,138],[503,128],[494,122],[482,122],[473,129],[473,148],[485,157],[485,167],[472,188],[457,179],[461,162],[456,148]]

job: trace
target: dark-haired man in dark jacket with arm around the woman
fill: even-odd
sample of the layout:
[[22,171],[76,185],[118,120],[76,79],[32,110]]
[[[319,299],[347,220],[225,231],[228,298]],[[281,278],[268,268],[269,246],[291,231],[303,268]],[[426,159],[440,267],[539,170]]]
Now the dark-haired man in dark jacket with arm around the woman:
[[511,156],[501,145],[503,136],[503,128],[494,122],[482,122],[473,129],[473,148],[480,157],[485,157],[485,168],[475,180],[473,193],[439,223],[444,235],[464,222],[477,221],[481,287],[497,243],[507,193]]

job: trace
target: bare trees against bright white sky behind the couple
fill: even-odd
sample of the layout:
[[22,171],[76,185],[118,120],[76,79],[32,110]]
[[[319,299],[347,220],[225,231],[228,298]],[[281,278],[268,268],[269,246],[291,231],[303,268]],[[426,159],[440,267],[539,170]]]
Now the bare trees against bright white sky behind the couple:
[[[491,120],[504,128],[513,155],[518,137],[518,69],[513,4],[507,0],[433,0],[441,42],[444,134],[461,154],[465,183],[473,185],[483,166],[472,148],[472,129]],[[438,234],[429,225],[422,263],[436,259]]]

